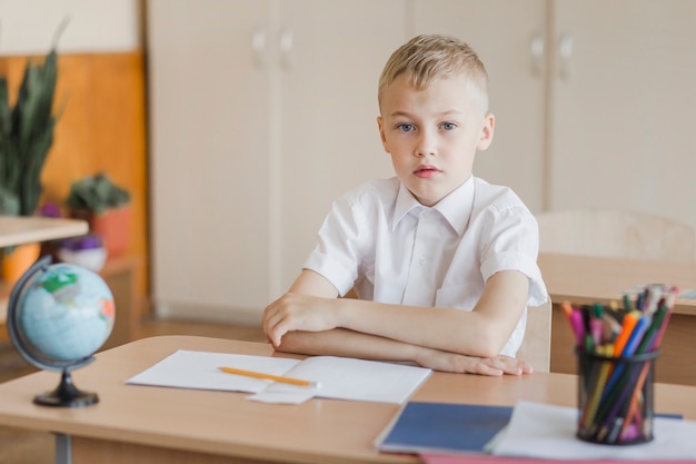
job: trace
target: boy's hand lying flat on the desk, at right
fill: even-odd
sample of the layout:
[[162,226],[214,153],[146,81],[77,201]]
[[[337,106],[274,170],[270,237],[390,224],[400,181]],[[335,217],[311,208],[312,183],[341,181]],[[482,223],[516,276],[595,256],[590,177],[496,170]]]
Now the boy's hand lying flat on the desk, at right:
[[426,348],[424,355],[419,357],[418,364],[434,371],[494,376],[531,374],[533,372],[529,364],[509,356],[483,358],[429,348]]

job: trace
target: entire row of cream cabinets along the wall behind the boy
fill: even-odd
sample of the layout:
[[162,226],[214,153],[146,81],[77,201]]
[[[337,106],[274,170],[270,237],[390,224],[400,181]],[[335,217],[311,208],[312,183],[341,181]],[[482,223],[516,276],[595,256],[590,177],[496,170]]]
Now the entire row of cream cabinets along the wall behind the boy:
[[[392,175],[377,80],[422,32],[490,75],[475,171],[533,209],[612,206],[696,227],[696,2],[150,0],[153,297],[258,318],[330,201]],[[208,313],[207,313],[208,312]]]

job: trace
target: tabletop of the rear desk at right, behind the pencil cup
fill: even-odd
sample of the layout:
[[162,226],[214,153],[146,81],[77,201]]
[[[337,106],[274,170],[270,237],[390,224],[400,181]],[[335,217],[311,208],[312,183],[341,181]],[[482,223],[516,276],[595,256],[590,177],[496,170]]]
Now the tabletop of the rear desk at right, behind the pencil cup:
[[[646,284],[696,288],[696,263],[667,263],[541,253],[538,258],[551,302],[620,302],[624,292]],[[677,299],[675,314],[696,315],[696,299]]]

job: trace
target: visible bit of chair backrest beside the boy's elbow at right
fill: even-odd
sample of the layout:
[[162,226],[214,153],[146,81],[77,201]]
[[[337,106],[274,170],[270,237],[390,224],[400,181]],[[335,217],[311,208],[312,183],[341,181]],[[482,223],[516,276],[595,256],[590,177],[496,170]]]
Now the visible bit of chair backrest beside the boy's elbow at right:
[[550,372],[551,367],[551,298],[541,306],[527,308],[527,329],[517,358],[531,364],[534,372]]

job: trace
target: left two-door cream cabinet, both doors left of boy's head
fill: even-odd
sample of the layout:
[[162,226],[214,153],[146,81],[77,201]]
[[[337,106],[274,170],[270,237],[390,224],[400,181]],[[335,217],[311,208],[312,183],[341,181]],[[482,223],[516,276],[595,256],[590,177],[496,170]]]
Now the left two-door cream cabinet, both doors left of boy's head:
[[258,319],[330,201],[391,175],[377,80],[400,0],[151,0],[152,294],[161,314]]

